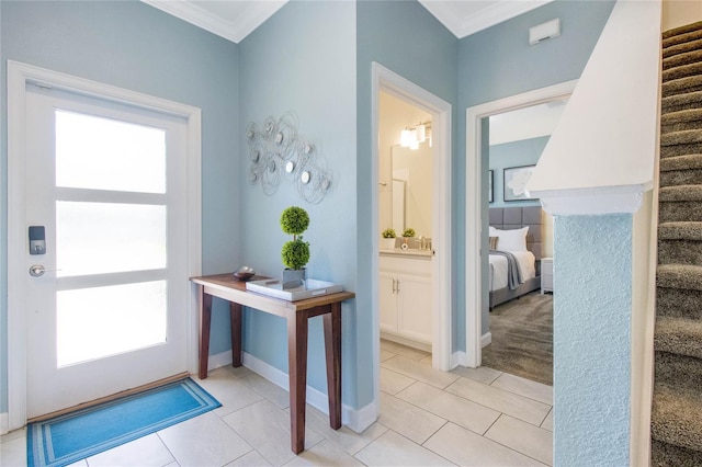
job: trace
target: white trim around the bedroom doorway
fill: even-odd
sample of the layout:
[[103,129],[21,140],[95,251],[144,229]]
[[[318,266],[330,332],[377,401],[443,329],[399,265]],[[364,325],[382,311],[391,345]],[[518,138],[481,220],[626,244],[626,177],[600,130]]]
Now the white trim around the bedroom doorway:
[[466,110],[466,190],[465,190],[465,362],[480,366],[483,272],[480,260],[483,184],[480,174],[480,119],[543,102],[556,101],[573,93],[577,80],[566,81],[522,94],[512,95]]

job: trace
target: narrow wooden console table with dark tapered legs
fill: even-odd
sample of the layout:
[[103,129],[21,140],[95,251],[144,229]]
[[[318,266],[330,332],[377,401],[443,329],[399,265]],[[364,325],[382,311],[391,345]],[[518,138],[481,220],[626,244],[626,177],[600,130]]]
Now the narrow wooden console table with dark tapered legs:
[[[262,280],[268,277],[254,277]],[[329,425],[341,428],[341,301],[355,294],[339,292],[298,301],[249,292],[246,283],[233,274],[191,277],[199,285],[200,307],[200,378],[207,377],[212,297],[229,301],[231,317],[231,365],[241,366],[241,310],[256,308],[287,320],[287,374],[290,378],[291,447],[298,454],[305,449],[305,401],[307,398],[307,320],[322,315],[325,353],[327,356],[327,391]]]

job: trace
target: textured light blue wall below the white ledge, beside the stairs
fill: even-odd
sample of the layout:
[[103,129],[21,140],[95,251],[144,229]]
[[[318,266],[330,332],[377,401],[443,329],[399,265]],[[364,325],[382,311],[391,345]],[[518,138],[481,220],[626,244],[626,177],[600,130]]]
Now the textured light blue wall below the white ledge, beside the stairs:
[[629,465],[632,219],[554,217],[556,466]]

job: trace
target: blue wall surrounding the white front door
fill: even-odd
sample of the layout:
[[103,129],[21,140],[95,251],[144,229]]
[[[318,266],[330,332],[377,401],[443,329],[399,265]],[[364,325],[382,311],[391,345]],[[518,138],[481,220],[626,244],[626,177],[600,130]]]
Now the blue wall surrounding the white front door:
[[[2,1],[0,16],[3,98],[11,59],[202,109],[203,272],[238,264],[238,46],[138,1]],[[2,141],[5,122],[2,105]],[[7,145],[0,150],[0,412],[7,412]],[[213,353],[230,348],[227,329],[215,316]]]

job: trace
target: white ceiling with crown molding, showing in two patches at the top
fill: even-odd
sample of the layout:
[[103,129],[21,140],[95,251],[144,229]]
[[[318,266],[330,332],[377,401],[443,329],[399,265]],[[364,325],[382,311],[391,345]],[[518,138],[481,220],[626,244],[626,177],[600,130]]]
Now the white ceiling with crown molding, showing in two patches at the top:
[[[141,0],[234,43],[239,43],[287,0]],[[463,38],[553,0],[419,0]]]

